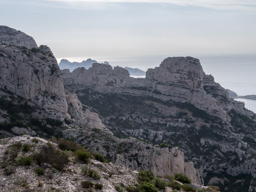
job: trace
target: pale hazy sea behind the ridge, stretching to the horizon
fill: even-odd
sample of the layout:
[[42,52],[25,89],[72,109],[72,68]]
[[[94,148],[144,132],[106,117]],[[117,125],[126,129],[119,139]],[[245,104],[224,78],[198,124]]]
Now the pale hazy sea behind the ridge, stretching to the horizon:
[[[94,59],[97,62],[108,61],[112,66],[139,68],[147,71],[148,68],[158,67],[168,56],[192,56],[200,60],[203,71],[212,74],[215,82],[226,89],[235,91],[237,95],[256,95],[256,53],[230,55],[144,55],[144,56],[79,56],[57,57],[57,61],[67,59],[71,62],[82,62]],[[144,78],[144,75],[132,76]],[[256,113],[256,100],[237,98],[245,102],[245,107]]]

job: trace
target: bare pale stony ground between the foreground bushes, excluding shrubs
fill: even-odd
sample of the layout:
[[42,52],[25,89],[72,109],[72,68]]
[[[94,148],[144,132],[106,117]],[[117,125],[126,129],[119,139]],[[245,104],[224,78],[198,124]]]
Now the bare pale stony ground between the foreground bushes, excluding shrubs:
[[[0,191],[111,192],[122,191],[117,190],[117,185],[125,188],[129,185],[135,186],[139,183],[137,171],[132,171],[125,166],[112,164],[112,162],[104,163],[97,160],[91,160],[89,163],[84,164],[75,159],[72,151],[62,151],[56,143],[46,141],[39,137],[19,136],[11,139],[1,139],[0,142],[2,143],[0,144]],[[56,164],[43,163],[38,165],[33,159],[33,156],[41,152],[45,146],[53,146],[54,150],[68,156],[68,162],[61,170],[57,169]],[[15,159],[9,159],[13,156],[15,156]],[[22,161],[25,157],[31,161]],[[97,173],[97,176],[85,173],[82,167],[93,170]],[[36,168],[42,168],[42,175],[38,174]],[[88,181],[100,183],[103,188],[97,189],[95,185],[86,187],[87,185],[85,183],[89,183]],[[165,181],[168,180],[165,179]],[[180,184],[183,185],[182,183]],[[196,184],[192,186],[202,188]],[[173,190],[171,187],[167,187],[165,191]]]

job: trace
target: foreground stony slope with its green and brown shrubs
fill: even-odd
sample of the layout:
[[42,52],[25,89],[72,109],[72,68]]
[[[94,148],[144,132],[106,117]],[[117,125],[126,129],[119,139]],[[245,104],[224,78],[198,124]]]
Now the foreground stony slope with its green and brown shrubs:
[[31,136],[1,139],[0,190],[217,191],[215,187],[185,184],[190,180],[182,174],[156,178],[149,171],[138,173],[107,162],[103,155],[88,152],[74,142],[56,138],[51,141]]

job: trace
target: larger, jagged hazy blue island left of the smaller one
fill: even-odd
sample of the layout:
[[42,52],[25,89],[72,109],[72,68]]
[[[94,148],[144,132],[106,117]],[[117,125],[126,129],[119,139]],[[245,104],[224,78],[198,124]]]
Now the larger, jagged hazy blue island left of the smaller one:
[[[59,67],[60,69],[69,69],[69,71],[73,71],[74,69],[78,68],[78,67],[84,67],[86,69],[89,69],[93,63],[98,63],[96,60],[92,60],[92,59],[88,59],[86,61],[82,61],[82,62],[70,62],[66,59],[62,59],[59,63]],[[104,63],[101,63],[104,65],[109,65],[109,63],[107,61],[105,61]]]

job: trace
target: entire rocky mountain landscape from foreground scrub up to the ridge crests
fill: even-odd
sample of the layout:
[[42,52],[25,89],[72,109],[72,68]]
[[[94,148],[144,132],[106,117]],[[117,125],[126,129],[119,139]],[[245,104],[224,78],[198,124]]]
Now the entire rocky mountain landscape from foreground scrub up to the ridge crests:
[[256,115],[198,59],[137,79],[99,63],[70,72],[25,33],[0,34],[1,190],[256,191]]

